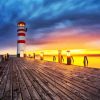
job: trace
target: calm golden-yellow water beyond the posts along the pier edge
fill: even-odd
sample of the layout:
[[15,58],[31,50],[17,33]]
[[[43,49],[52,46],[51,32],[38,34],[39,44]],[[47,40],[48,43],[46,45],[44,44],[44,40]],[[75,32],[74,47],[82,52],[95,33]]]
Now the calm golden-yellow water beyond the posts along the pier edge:
[[[55,55],[56,60],[55,62],[58,62],[58,56]],[[39,56],[36,57],[37,59],[40,59]],[[88,67],[92,68],[100,68],[100,56],[87,56],[88,58]],[[64,61],[62,63],[66,64],[67,63],[67,56],[63,55]],[[84,56],[73,56],[74,62],[72,62],[73,65],[78,65],[78,66],[84,66],[83,60]],[[46,61],[53,61],[53,55],[45,56],[44,55],[44,60]]]

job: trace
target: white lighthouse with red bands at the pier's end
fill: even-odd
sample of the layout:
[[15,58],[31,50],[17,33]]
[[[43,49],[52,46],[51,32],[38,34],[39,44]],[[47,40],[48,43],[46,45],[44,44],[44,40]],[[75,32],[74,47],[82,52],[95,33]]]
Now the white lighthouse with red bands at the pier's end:
[[24,57],[24,51],[25,51],[25,44],[26,44],[26,23],[25,22],[19,22],[17,24],[17,57]]

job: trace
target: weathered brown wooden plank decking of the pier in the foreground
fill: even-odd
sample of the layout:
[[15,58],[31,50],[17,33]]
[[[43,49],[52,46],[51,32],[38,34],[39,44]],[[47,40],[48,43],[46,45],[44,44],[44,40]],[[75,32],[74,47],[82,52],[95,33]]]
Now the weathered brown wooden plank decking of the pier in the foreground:
[[0,64],[0,100],[100,100],[100,70],[11,58]]

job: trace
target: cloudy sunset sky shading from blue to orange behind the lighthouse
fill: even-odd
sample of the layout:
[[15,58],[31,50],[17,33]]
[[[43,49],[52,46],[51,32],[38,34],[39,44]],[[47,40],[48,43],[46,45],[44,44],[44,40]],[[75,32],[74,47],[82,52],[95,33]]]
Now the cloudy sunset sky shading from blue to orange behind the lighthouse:
[[0,0],[0,52],[16,53],[19,21],[27,50],[100,49],[100,0]]

